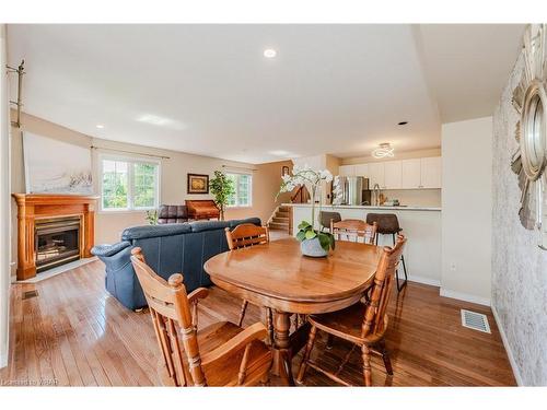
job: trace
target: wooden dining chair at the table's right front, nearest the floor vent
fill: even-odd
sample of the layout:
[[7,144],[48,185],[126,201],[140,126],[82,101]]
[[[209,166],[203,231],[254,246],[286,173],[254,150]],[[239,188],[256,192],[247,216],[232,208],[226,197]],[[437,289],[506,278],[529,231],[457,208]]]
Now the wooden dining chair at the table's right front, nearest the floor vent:
[[[403,254],[406,241],[407,239],[403,235],[398,235],[397,242],[393,248],[387,246],[384,247],[376,273],[374,274],[374,284],[366,303],[358,302],[342,311],[309,316],[309,321],[312,325],[312,328],[310,329],[306,349],[300,365],[299,375],[296,377],[296,382],[299,384],[303,383],[304,374],[307,366],[310,366],[319,373],[323,373],[330,379],[349,386],[349,383],[341,379],[338,374],[349,361],[349,358],[356,347],[361,348],[365,386],[372,386],[372,354],[382,356],[387,374],[393,375],[392,363],[389,361],[387,350],[385,349],[384,341],[384,335],[388,324],[386,308],[389,302],[395,269],[400,260],[400,255]],[[353,347],[342,360],[335,373],[319,367],[316,362],[310,359],[317,330],[323,330],[327,335],[331,335],[353,343]]]

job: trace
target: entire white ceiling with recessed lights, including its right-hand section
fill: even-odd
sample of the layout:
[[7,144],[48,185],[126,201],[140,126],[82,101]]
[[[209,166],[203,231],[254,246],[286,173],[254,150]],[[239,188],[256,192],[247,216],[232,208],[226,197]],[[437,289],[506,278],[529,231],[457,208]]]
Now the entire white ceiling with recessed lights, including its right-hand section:
[[25,59],[26,113],[93,137],[261,163],[366,155],[385,141],[439,147],[442,121],[493,112],[522,31],[45,24],[9,25],[8,36],[10,65]]

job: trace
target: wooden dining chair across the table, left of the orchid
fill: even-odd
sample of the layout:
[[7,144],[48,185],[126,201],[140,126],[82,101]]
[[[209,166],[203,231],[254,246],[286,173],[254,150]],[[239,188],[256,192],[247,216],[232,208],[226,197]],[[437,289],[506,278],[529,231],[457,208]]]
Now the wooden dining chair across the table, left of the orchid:
[[[267,244],[270,241],[269,231],[265,226],[257,226],[252,223],[243,223],[235,226],[233,231],[225,229],[228,247],[230,250],[246,248],[249,246]],[[237,326],[243,325],[245,313],[247,312],[248,301],[243,301]],[[268,328],[269,340],[274,341],[274,316],[269,307],[265,308],[266,326]]]

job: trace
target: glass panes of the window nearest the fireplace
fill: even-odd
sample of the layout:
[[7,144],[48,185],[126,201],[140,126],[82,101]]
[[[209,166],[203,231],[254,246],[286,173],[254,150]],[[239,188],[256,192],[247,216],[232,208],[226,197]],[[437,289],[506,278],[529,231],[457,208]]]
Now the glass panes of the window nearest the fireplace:
[[158,208],[159,174],[159,162],[103,157],[101,209],[128,211]]

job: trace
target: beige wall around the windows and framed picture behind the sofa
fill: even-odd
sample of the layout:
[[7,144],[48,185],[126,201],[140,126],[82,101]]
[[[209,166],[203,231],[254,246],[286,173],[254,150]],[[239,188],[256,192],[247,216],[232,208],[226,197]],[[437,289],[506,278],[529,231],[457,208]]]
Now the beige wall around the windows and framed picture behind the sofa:
[[[14,112],[12,110],[12,117]],[[210,195],[187,195],[186,180],[187,173],[209,174],[212,176],[216,169],[228,169],[237,172],[248,172],[253,175],[253,206],[251,208],[236,208],[226,211],[226,219],[241,219],[248,216],[259,216],[263,223],[266,223],[276,208],[275,196],[279,190],[281,180],[281,168],[283,165],[292,168],[290,161],[269,163],[269,164],[247,164],[221,159],[214,159],[202,155],[194,155],[178,151],[161,150],[155,148],[128,144],[116,141],[108,141],[93,138],[59,125],[49,122],[42,118],[23,114],[22,129],[12,128],[11,141],[11,185],[12,192],[25,191],[25,176],[23,163],[23,138],[22,131],[30,131],[49,138],[55,138],[63,142],[78,144],[81,147],[98,147],[92,150],[93,176],[95,192],[98,191],[98,156],[101,153],[110,153],[119,155],[130,155],[120,151],[131,151],[142,155],[168,156],[161,160],[161,203],[184,203],[185,199],[209,199]],[[279,199],[287,200],[287,196]],[[101,212],[97,206],[95,220],[95,243],[114,243],[119,241],[121,231],[128,226],[146,224],[144,212]],[[16,260],[16,207],[12,207],[12,259]],[[12,270],[14,274],[14,268]]]

